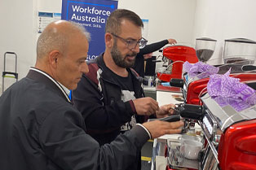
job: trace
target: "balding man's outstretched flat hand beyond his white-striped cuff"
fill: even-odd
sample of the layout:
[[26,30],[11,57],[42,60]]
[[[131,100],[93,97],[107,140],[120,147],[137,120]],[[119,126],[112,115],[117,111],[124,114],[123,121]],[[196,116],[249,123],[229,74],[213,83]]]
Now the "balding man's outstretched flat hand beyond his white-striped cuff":
[[143,126],[148,129],[149,133],[151,133],[152,139],[161,137],[164,134],[181,133],[183,125],[182,120],[176,122],[154,120],[143,124]]

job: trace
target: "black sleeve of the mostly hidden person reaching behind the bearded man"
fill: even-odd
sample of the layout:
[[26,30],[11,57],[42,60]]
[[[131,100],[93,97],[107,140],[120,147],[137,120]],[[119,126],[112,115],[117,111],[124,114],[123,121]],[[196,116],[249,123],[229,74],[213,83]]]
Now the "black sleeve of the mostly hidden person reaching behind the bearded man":
[[155,42],[155,43],[149,44],[149,45],[145,46],[143,49],[139,50],[139,53],[136,55],[135,65],[133,67],[135,69],[135,71],[138,72],[139,76],[144,77],[144,75],[145,75],[143,54],[148,54],[148,53],[152,53],[156,50],[159,50],[159,49],[161,49],[161,47],[166,46],[166,44],[168,44],[168,42],[169,42],[168,40]]

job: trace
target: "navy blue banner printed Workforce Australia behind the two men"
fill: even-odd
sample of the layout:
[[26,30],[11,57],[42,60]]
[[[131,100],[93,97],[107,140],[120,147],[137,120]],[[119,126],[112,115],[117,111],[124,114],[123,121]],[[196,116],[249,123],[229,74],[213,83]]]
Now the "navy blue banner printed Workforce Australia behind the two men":
[[62,0],[61,20],[82,24],[90,32],[91,41],[87,59],[95,59],[105,50],[104,28],[110,13],[117,9],[111,0]]

